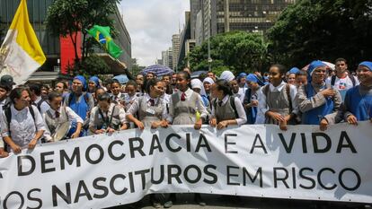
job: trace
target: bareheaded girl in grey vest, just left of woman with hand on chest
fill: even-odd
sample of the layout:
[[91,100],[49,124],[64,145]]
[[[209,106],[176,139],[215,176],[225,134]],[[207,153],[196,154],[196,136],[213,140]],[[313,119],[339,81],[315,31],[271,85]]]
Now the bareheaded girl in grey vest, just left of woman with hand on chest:
[[297,88],[285,83],[286,67],[271,65],[269,70],[270,84],[259,91],[259,112],[256,124],[275,124],[281,130],[287,130],[287,125],[296,124],[298,106],[296,100]]

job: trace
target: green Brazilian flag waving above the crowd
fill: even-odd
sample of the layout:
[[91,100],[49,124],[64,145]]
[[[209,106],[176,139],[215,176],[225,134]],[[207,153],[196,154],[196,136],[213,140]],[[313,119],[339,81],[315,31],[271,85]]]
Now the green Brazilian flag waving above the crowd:
[[111,57],[118,58],[123,53],[121,48],[116,45],[110,35],[110,27],[94,25],[91,30],[87,30],[88,33],[94,37],[111,55]]

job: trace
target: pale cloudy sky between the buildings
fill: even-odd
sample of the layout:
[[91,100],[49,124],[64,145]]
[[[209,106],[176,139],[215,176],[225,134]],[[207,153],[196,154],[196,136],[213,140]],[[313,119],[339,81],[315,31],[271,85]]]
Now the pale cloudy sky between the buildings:
[[154,65],[172,47],[172,35],[183,27],[189,0],[122,0],[120,12],[132,40],[137,64]]

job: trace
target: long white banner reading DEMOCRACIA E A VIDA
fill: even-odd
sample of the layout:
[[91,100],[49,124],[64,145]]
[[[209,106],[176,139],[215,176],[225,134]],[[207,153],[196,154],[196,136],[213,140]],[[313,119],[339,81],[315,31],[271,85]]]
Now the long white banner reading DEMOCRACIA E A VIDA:
[[369,122],[93,135],[0,159],[0,207],[102,208],[170,192],[372,203],[371,147]]

